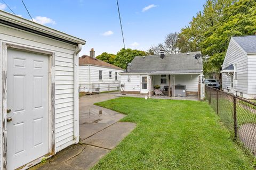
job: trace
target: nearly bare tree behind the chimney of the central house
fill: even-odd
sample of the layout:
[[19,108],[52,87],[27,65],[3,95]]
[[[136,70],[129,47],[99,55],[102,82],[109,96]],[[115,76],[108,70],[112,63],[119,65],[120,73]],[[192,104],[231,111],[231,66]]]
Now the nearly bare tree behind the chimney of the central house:
[[179,53],[178,48],[178,33],[169,33],[165,37],[164,43],[160,43],[157,46],[153,45],[149,48],[149,51],[154,52],[154,54],[159,54],[160,50],[164,50],[166,54]]

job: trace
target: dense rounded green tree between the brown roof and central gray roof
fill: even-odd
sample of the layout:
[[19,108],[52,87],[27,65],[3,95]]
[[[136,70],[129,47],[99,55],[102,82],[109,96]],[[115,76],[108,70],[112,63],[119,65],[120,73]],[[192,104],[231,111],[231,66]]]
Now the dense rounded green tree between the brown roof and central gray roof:
[[124,49],[122,48],[119,50],[119,52],[116,54],[115,63],[114,65],[121,67],[122,69],[126,69],[126,62],[130,63],[132,62],[133,58],[135,56],[146,56],[148,55],[147,52],[137,50],[137,49]]

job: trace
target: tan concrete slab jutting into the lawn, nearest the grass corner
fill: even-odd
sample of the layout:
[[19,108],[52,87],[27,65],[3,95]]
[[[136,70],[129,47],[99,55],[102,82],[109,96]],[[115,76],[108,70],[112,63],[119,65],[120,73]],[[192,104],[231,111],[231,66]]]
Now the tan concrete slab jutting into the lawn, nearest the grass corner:
[[94,134],[92,137],[81,141],[81,143],[101,148],[113,149],[135,128],[135,126],[135,123],[117,122],[109,126],[107,129]]

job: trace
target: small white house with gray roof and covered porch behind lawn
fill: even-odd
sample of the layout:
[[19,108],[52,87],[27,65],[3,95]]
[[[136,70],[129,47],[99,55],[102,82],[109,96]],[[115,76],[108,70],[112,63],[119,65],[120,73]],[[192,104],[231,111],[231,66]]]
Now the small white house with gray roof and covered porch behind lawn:
[[148,94],[150,97],[154,86],[159,85],[172,97],[198,95],[198,92],[203,94],[199,89],[199,80],[203,75],[202,57],[196,59],[196,54],[201,56],[201,52],[161,54],[162,57],[137,56],[128,66],[128,72],[121,73],[121,90],[130,94]]

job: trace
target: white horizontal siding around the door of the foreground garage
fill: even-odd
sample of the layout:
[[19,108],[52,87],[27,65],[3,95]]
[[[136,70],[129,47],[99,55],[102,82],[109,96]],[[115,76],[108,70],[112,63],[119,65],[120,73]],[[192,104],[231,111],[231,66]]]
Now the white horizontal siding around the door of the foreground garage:
[[[76,47],[57,40],[0,26],[6,43],[55,53],[55,151],[76,143],[74,139],[74,61]],[[1,43],[2,45],[2,43]],[[2,129],[1,129],[2,130]]]

